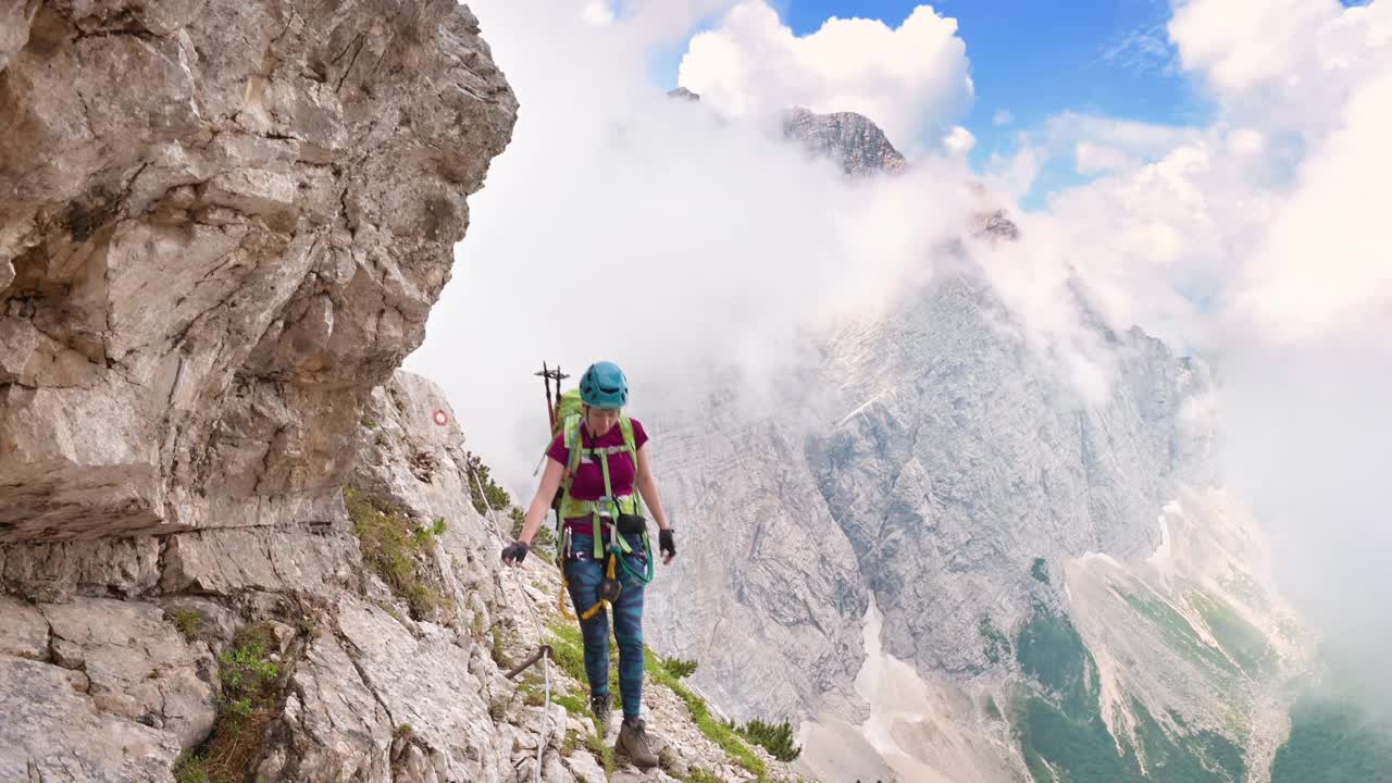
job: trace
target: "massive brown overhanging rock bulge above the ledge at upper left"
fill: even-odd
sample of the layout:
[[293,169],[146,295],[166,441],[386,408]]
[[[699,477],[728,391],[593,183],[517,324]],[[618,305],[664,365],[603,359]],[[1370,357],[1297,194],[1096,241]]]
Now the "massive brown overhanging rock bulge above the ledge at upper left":
[[329,515],[514,99],[445,0],[0,3],[0,542]]

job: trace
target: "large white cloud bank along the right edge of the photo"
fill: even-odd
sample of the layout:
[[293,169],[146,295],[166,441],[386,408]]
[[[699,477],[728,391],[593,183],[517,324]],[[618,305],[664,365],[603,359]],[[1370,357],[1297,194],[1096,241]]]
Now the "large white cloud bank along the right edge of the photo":
[[[1367,658],[1392,644],[1392,0],[1192,0],[1169,31],[1217,118],[1047,127],[1030,155],[1137,164],[1023,217],[1043,269],[1009,269],[1055,291],[1050,269],[1076,273],[1109,323],[1217,368],[1224,481],[1270,524],[1292,598]],[[1047,297],[1019,309],[1068,339]]]

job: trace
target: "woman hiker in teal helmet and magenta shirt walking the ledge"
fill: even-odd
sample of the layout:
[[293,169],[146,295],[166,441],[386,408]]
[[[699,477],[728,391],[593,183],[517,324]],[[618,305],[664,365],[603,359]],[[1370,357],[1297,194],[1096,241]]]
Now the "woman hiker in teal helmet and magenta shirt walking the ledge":
[[[614,750],[628,755],[635,766],[657,765],[647,743],[643,719],[643,585],[651,578],[646,546],[647,525],[643,504],[657,518],[663,563],[677,556],[672,527],[663,510],[657,482],[647,460],[647,433],[638,419],[619,414],[628,404],[628,380],[614,362],[596,362],[580,378],[583,415],[562,428],[547,450],[541,486],[528,507],[518,541],[503,550],[508,566],[522,563],[564,489],[560,557],[569,585],[571,603],[580,617],[585,635],[585,674],[590,680],[590,709],[608,727],[610,695],[608,617],[601,599],[614,610],[614,638],[618,642],[618,683],[624,697],[624,724]],[[576,426],[578,424],[578,426]],[[572,453],[568,443],[578,446]],[[564,483],[564,488],[562,488]],[[635,497],[635,492],[642,502]],[[596,541],[596,536],[600,536]],[[565,545],[568,542],[568,546]],[[612,555],[611,548],[619,553]],[[610,557],[615,557],[611,563]],[[615,567],[617,566],[617,567]],[[644,578],[643,574],[647,573]],[[615,585],[615,580],[618,582]],[[614,595],[617,589],[618,595]]]

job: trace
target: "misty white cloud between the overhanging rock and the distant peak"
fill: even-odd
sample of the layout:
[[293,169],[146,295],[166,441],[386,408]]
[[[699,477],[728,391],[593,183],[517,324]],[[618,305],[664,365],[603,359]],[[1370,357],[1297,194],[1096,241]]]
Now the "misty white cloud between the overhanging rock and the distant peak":
[[959,160],[848,184],[759,123],[665,98],[647,57],[699,21],[689,4],[624,3],[603,26],[582,3],[470,6],[522,109],[408,366],[443,383],[469,447],[521,493],[544,443],[543,359],[619,362],[640,418],[668,392],[703,394],[713,359],[757,390],[800,359],[803,330],[931,274],[928,249],[967,224]]

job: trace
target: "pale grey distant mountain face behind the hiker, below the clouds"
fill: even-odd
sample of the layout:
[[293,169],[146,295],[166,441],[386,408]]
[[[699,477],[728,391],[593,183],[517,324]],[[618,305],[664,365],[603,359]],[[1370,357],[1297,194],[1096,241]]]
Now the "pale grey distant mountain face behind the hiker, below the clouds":
[[1047,780],[1104,724],[1107,779],[1161,754],[1260,779],[1297,651],[1217,486],[1205,371],[1139,329],[1080,340],[1112,379],[1089,393],[963,259],[820,343],[777,412],[650,417],[685,546],[657,646],[741,719],[800,719],[824,779]]

